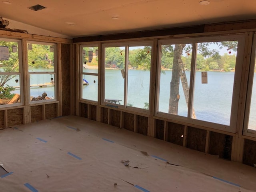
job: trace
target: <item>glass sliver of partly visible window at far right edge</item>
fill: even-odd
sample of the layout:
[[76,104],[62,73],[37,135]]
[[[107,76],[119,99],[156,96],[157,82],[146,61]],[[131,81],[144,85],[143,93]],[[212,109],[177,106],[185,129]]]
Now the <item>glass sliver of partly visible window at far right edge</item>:
[[251,96],[251,103],[250,103],[250,114],[249,114],[249,122],[248,122],[248,129],[256,130],[256,60],[254,64],[254,76],[253,76],[253,83],[252,83],[252,96]]

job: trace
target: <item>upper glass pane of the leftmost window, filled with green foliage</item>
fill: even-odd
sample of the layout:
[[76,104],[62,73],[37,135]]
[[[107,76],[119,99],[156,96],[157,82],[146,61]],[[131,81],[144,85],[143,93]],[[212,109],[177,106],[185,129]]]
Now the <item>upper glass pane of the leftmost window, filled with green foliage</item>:
[[18,71],[18,42],[0,41],[0,72]]

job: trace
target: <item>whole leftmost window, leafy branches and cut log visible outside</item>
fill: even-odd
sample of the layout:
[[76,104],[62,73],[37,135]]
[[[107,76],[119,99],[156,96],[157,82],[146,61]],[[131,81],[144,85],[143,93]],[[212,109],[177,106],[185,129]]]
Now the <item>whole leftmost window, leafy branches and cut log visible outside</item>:
[[0,39],[0,107],[21,105],[22,93],[21,42]]

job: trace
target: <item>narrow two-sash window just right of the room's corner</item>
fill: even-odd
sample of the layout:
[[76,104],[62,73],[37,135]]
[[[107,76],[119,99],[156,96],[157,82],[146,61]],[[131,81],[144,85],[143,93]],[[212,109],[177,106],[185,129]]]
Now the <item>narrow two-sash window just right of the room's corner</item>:
[[81,98],[98,101],[98,46],[81,46]]

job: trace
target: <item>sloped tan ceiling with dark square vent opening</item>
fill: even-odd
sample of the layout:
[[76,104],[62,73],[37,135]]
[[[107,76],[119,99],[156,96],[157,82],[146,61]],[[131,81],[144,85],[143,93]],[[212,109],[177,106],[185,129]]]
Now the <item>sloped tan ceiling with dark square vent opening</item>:
[[[0,17],[70,38],[256,18],[256,0],[6,1],[0,1]],[[46,9],[28,9],[37,4]]]

